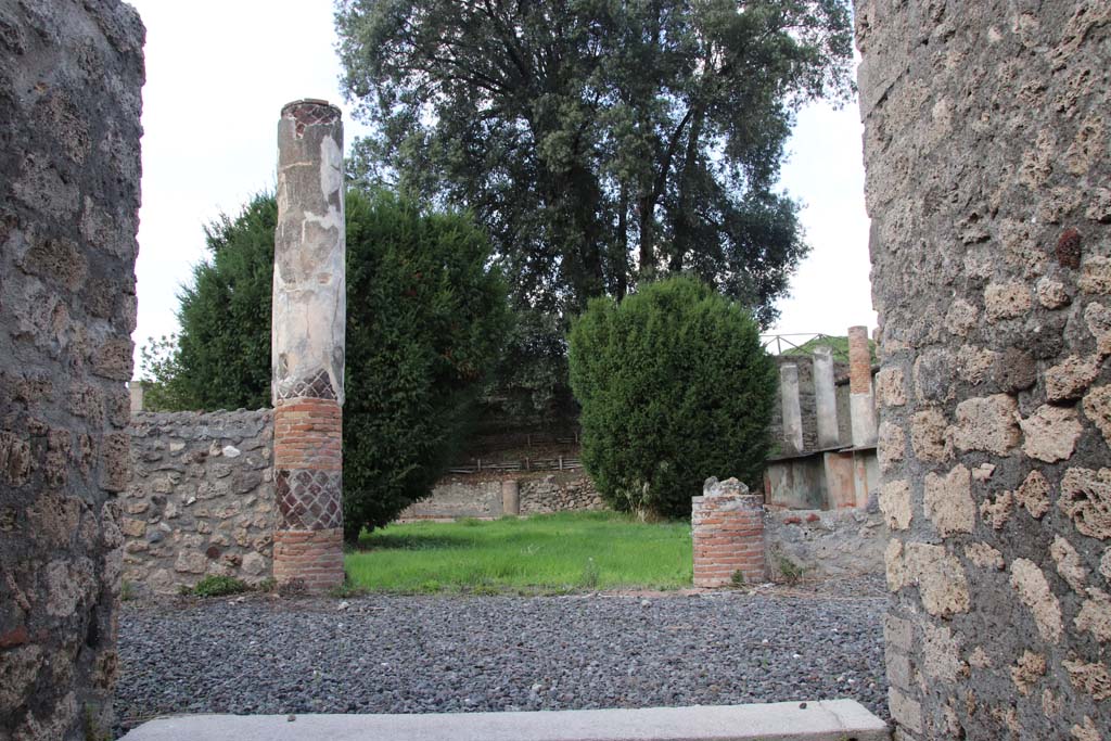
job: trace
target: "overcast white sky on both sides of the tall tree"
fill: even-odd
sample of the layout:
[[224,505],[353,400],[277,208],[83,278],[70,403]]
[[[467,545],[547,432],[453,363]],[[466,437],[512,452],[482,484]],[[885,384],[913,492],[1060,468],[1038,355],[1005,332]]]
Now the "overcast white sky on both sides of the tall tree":
[[[147,26],[137,346],[177,331],[179,287],[204,257],[202,227],[274,184],[281,107],[339,93],[331,0],[129,0]],[[802,199],[813,248],[775,332],[874,327],[861,126],[855,106],[799,118],[783,187]],[[137,353],[138,358],[138,353]],[[138,372],[138,364],[136,367]]]

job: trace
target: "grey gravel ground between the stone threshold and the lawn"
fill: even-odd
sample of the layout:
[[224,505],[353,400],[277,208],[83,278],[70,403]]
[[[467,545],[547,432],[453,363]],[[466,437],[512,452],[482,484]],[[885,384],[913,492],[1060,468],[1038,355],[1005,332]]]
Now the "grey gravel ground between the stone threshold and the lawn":
[[882,581],[572,597],[128,603],[116,713],[419,713],[853,698],[887,719]]

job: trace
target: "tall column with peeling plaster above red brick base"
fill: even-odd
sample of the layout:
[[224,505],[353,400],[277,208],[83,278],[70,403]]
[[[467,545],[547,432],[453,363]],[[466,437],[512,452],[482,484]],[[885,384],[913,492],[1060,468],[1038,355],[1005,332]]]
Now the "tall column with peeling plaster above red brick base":
[[274,579],[343,583],[343,123],[322,100],[278,122],[278,228],[271,328]]

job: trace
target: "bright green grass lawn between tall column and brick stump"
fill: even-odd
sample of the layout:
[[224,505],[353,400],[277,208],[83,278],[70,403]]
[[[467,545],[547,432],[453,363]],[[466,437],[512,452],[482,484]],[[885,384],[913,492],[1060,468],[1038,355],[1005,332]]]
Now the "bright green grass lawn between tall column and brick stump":
[[614,512],[392,524],[344,564],[351,588],[387,592],[679,589],[691,584],[690,530]]

